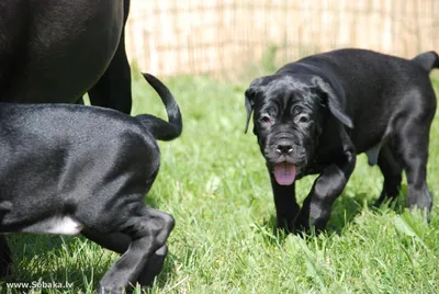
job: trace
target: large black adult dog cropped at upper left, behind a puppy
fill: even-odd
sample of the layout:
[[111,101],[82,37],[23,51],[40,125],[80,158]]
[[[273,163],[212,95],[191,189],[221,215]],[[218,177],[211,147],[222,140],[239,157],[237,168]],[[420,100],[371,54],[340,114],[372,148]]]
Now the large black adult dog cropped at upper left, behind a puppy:
[[[2,1],[0,102],[76,103],[88,92],[130,114],[128,11],[130,0]],[[10,262],[0,236],[0,276]]]

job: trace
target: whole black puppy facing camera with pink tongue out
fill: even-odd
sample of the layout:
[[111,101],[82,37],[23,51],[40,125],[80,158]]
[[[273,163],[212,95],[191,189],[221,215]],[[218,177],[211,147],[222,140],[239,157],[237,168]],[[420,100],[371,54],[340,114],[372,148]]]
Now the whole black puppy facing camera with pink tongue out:
[[[267,160],[278,226],[323,229],[345,189],[356,156],[378,163],[384,186],[378,203],[398,195],[403,170],[408,206],[431,210],[426,183],[436,95],[434,52],[412,60],[363,49],[339,49],[288,64],[254,80],[246,91],[247,125]],[[302,210],[295,180],[319,173]]]

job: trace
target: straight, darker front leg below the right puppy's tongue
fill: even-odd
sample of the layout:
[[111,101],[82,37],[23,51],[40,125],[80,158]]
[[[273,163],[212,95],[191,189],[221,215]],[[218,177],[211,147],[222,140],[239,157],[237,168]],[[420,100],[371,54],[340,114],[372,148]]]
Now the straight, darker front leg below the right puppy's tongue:
[[295,200],[295,183],[280,185],[270,173],[271,186],[274,194],[275,216],[278,228],[293,233],[293,223],[299,214],[300,206]]

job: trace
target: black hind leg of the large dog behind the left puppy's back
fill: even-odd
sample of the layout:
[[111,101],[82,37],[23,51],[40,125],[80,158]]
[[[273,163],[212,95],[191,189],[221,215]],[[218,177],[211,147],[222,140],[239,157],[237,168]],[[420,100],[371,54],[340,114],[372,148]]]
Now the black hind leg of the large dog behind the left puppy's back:
[[89,90],[92,105],[104,106],[130,114],[132,108],[131,67],[125,52],[125,24],[130,0],[124,1],[124,29],[117,49],[97,84]]

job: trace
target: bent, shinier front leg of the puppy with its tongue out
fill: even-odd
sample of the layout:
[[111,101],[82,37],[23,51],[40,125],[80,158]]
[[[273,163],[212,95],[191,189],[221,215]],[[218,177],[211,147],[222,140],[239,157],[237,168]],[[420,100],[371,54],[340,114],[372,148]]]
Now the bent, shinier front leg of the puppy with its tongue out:
[[344,165],[330,165],[314,181],[309,194],[305,199],[302,210],[295,220],[299,230],[308,230],[315,227],[316,231],[325,228],[329,220],[333,203],[344,191],[350,174],[356,167],[356,154],[346,152]]

